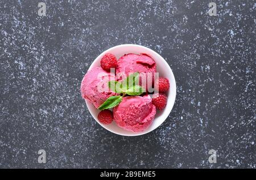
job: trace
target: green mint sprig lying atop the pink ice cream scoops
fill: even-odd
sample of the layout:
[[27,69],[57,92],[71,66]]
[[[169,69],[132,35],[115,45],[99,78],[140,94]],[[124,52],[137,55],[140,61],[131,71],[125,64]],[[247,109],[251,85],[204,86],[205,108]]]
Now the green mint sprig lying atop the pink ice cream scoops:
[[135,72],[127,78],[123,79],[122,82],[117,82],[111,80],[109,82],[109,88],[116,93],[122,93],[122,96],[110,96],[98,109],[104,110],[109,108],[114,108],[117,106],[123,99],[123,96],[139,96],[143,92],[146,92],[143,87],[139,84],[139,72]]

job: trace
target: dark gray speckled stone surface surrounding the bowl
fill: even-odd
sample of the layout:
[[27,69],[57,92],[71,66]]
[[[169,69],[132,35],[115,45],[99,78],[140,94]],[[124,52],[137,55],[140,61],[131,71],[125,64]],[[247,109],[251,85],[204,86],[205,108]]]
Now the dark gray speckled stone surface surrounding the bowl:
[[[0,1],[0,168],[255,168],[255,1]],[[102,51],[139,44],[177,83],[149,134],[94,121],[80,82]],[[46,150],[47,163],[37,152]],[[208,151],[217,150],[217,163]]]

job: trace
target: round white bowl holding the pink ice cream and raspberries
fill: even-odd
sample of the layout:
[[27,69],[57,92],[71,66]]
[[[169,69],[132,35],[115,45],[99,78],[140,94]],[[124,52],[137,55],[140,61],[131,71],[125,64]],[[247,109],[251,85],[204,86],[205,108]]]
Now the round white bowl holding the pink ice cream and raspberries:
[[123,130],[121,127],[118,127],[115,122],[113,121],[110,125],[102,125],[98,119],[97,115],[100,112],[100,110],[96,109],[90,101],[86,100],[86,105],[89,109],[90,114],[92,114],[93,118],[106,130],[109,130],[110,132],[113,132],[118,135],[123,136],[138,136],[146,134],[150,131],[153,131],[156,127],[162,125],[162,123],[166,120],[168,115],[171,113],[172,107],[174,106],[175,97],[176,97],[176,82],[174,78],[174,74],[172,73],[172,70],[168,63],[162,58],[158,53],[154,52],[154,50],[148,49],[141,45],[134,45],[134,44],[123,44],[114,46],[113,48],[110,48],[106,50],[105,52],[101,53],[90,65],[89,70],[93,67],[100,67],[100,61],[104,54],[106,53],[112,53],[115,55],[115,57],[120,58],[124,54],[134,53],[134,54],[141,54],[146,53],[152,57],[156,62],[156,71],[159,72],[159,77],[163,76],[167,78],[170,82],[170,89],[166,93],[168,99],[167,99],[167,105],[166,108],[163,110],[157,110],[155,119],[153,120],[152,124],[146,128],[146,130],[142,132],[130,132],[127,130]]

